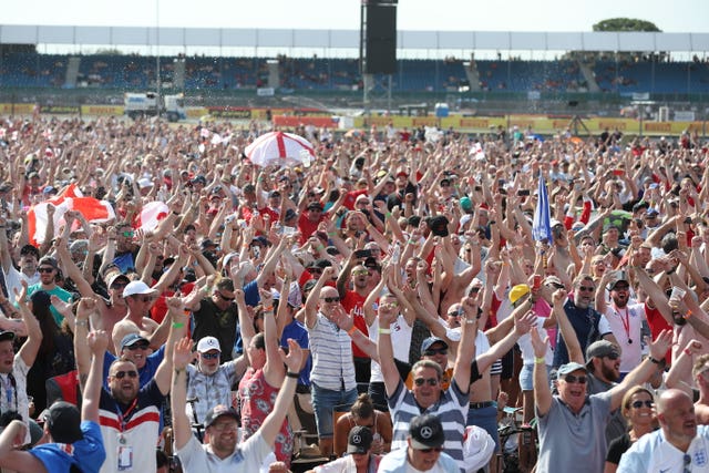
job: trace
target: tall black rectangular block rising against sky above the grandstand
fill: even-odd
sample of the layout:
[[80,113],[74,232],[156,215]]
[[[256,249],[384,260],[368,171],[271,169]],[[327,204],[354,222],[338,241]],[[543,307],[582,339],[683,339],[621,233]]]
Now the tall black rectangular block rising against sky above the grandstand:
[[397,72],[397,6],[368,3],[364,58],[366,74]]

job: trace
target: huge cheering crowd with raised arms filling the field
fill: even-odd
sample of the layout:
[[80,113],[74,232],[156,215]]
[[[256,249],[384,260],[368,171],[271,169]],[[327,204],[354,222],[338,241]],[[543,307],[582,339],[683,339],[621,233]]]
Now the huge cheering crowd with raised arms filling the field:
[[2,120],[3,471],[709,471],[696,134],[268,130]]

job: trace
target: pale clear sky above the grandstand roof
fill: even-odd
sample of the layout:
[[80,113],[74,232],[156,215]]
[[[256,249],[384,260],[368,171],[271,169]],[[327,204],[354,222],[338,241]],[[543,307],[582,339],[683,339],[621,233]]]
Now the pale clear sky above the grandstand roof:
[[[71,4],[71,8],[68,6]],[[80,14],[78,14],[80,12]],[[295,28],[358,30],[359,0],[4,1],[3,24]],[[666,32],[709,32],[707,0],[400,0],[400,30],[590,31],[616,17]]]

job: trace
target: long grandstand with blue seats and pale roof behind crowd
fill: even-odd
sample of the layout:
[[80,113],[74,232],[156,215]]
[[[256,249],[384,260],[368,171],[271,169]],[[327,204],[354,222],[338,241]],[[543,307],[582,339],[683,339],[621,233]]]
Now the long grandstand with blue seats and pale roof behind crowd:
[[[254,55],[185,53],[138,54],[42,54],[4,52],[0,55],[2,94],[33,97],[52,96],[82,103],[115,102],[125,91],[153,90],[157,82],[196,100],[226,100],[240,105],[264,99],[254,91],[269,89],[270,101],[281,96],[316,96],[323,103],[357,104],[366,78],[359,61],[338,56],[337,51],[357,48],[357,31],[269,30],[161,30],[142,28],[8,27],[0,25],[0,44],[105,44],[161,47],[210,44],[218,48],[253,48]],[[136,40],[141,38],[141,40]],[[268,40],[264,40],[268,38]],[[475,104],[495,111],[495,103],[525,106],[535,111],[563,112],[565,103],[592,103],[592,107],[619,110],[633,94],[645,94],[657,102],[692,103],[700,106],[709,97],[709,63],[695,55],[692,61],[674,61],[672,53],[706,54],[709,34],[669,33],[493,33],[493,32],[407,32],[398,33],[400,59],[392,76],[398,103],[445,101],[454,106]],[[435,44],[434,48],[431,44]],[[295,51],[321,45],[332,56],[259,55],[259,50]],[[486,51],[517,51],[522,48],[561,51],[559,60],[523,60],[511,53],[497,59],[474,59]],[[412,59],[407,52],[432,50],[431,59]],[[655,51],[662,53],[654,53]],[[458,51],[454,54],[440,54]],[[583,55],[565,54],[580,51]],[[650,51],[643,53],[640,51]],[[602,55],[602,53],[604,55]],[[597,54],[595,58],[594,54]],[[346,54],[343,54],[346,55]],[[442,56],[441,56],[442,55]],[[158,65],[160,64],[160,65]],[[58,90],[62,90],[59,93]],[[71,91],[71,93],[70,93]],[[531,95],[534,94],[534,95]],[[38,99],[41,100],[41,99]],[[507,105],[500,105],[501,107]],[[523,110],[524,111],[524,110]]]

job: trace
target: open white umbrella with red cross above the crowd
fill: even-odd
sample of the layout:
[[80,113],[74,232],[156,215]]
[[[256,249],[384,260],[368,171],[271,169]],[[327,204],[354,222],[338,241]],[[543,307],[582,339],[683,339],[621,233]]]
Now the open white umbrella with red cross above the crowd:
[[[246,157],[258,166],[310,165],[315,150],[310,142],[292,133],[270,132],[257,137],[244,150]],[[306,166],[307,167],[307,166]]]

